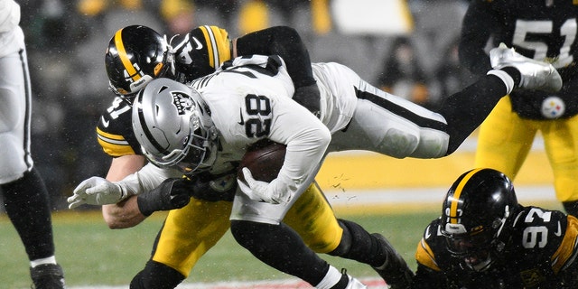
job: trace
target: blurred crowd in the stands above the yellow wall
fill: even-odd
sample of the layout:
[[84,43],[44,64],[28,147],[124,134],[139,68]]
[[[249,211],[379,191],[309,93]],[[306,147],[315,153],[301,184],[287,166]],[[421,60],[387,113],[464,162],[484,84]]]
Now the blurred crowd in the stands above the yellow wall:
[[[33,155],[54,209],[66,208],[66,197],[79,182],[107,173],[110,159],[95,132],[98,117],[114,97],[107,89],[104,53],[113,33],[129,24],[144,24],[168,36],[212,24],[227,29],[231,38],[290,25],[302,34],[312,61],[340,62],[379,88],[433,109],[472,82],[456,49],[466,0],[395,0],[408,11],[409,24],[401,33],[345,33],[335,19],[335,5],[344,2],[20,1],[35,98]],[[349,2],[364,5],[361,13],[374,9],[372,3],[383,4]],[[359,16],[350,14],[354,21]]]

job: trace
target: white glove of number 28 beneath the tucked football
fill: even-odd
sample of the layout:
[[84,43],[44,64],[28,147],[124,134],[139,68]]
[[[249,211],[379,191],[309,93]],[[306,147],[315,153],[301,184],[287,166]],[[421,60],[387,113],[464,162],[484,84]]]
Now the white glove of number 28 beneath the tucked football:
[[291,196],[288,193],[280,194],[275,190],[275,182],[261,182],[256,181],[253,178],[253,174],[247,168],[242,169],[243,176],[245,177],[245,182],[238,180],[238,187],[243,191],[251,200],[266,201],[272,204],[285,204],[291,200]]

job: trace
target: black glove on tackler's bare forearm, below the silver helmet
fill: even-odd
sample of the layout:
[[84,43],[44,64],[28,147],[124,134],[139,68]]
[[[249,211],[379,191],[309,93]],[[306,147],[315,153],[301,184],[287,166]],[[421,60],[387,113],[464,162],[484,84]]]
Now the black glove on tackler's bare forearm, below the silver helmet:
[[136,197],[138,209],[144,216],[157,210],[181,209],[191,200],[191,181],[186,179],[166,179],[151,191]]

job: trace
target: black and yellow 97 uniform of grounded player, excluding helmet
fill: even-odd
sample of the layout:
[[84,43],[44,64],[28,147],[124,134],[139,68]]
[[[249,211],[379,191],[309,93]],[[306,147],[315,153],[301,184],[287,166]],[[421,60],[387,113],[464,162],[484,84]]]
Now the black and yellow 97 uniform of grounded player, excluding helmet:
[[576,288],[578,219],[537,207],[515,211],[502,254],[481,272],[450,254],[443,221],[433,220],[417,245],[413,288]]

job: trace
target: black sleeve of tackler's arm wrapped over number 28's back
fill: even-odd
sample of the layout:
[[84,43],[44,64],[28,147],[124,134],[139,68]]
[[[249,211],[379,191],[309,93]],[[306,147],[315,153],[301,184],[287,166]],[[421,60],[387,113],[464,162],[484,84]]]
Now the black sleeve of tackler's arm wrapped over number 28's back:
[[238,55],[279,55],[285,61],[295,88],[315,83],[309,52],[299,33],[291,27],[275,26],[248,33],[237,39],[237,51]]

